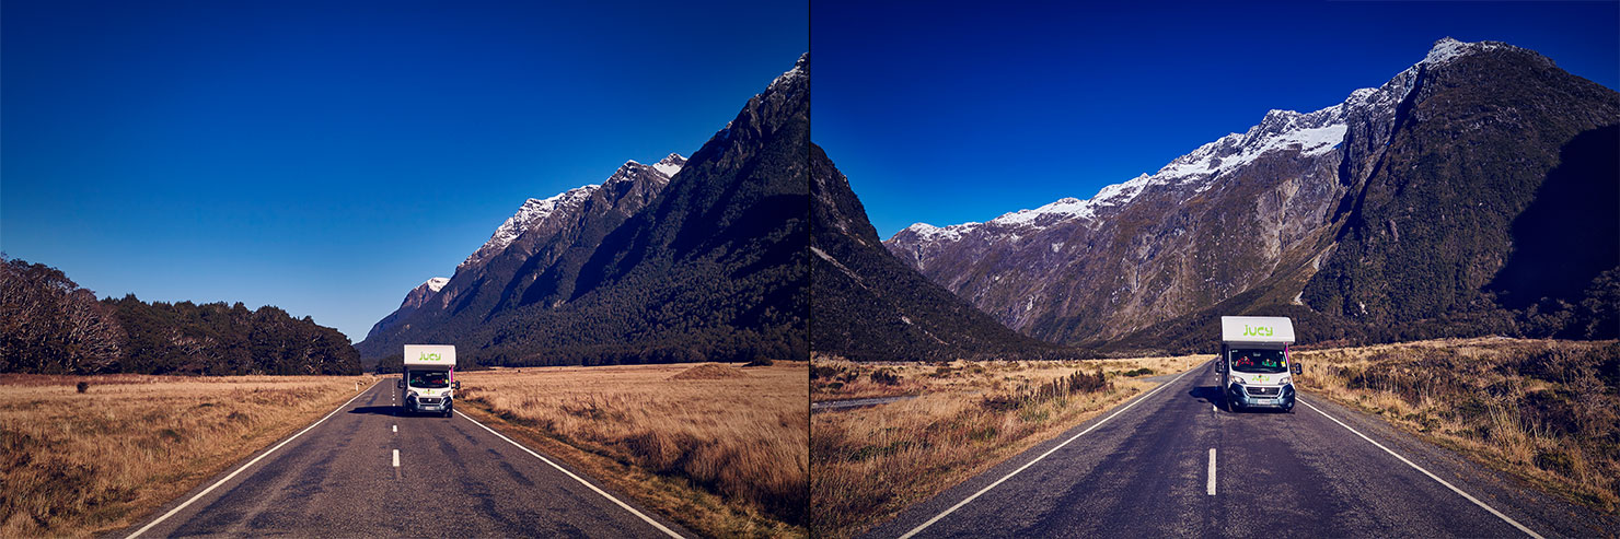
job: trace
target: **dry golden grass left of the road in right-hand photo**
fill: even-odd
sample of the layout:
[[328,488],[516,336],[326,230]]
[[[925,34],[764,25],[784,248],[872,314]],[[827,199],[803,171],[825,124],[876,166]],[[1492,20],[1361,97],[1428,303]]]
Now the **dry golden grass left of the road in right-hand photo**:
[[[1121,372],[1176,374],[1207,359],[859,364],[816,356],[810,385],[818,401],[915,398],[812,414],[810,526],[823,537],[859,534],[1158,385]],[[1030,398],[1053,380],[1098,369],[1110,388]]]

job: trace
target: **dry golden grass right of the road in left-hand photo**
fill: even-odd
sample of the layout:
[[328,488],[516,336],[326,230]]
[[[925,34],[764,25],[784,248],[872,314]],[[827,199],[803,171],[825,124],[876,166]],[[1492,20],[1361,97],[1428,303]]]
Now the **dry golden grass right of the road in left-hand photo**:
[[463,372],[458,410],[705,536],[805,536],[807,376],[804,361]]

